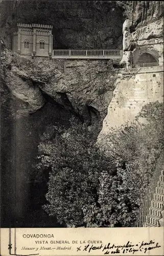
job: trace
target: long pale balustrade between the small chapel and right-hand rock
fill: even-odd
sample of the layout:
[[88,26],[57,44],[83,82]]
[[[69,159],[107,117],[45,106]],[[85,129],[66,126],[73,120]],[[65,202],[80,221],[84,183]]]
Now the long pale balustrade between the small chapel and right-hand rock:
[[74,58],[74,59],[121,59],[122,50],[53,50],[52,58]]

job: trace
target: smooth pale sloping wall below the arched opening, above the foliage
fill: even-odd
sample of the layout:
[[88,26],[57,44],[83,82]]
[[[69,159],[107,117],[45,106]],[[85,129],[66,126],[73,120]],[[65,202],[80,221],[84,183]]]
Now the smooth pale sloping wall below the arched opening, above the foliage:
[[138,71],[131,69],[127,74],[122,70],[116,80],[101,134],[108,133],[111,127],[133,121],[142,106],[156,100],[163,100],[163,66]]

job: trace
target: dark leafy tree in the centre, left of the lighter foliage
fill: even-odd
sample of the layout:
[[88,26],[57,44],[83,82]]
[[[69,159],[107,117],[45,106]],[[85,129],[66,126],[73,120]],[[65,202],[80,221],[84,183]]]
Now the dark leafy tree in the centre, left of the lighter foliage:
[[99,208],[99,178],[104,170],[112,173],[114,165],[94,144],[88,127],[73,123],[39,145],[38,168],[51,168],[46,194],[49,204],[44,209],[62,224],[87,225],[89,207]]

